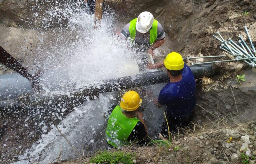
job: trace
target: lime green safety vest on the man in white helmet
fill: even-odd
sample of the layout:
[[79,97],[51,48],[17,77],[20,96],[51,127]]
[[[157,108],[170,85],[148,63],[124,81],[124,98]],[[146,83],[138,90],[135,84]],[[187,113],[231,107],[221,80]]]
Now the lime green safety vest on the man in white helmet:
[[[136,36],[136,22],[137,22],[137,18],[133,19],[130,22],[129,33],[130,33],[131,41],[134,41]],[[158,21],[154,19],[152,28],[149,30],[150,44],[153,44],[157,39],[157,24],[158,24]]]

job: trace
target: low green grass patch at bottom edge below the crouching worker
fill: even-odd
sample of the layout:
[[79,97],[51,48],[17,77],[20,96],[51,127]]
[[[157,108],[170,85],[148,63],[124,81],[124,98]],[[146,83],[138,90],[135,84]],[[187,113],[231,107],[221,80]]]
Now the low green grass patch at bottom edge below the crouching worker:
[[135,159],[136,159],[135,156],[132,156],[132,154],[125,153],[123,151],[115,151],[115,152],[98,151],[97,155],[90,158],[90,162],[92,163],[108,162],[110,164],[119,164],[119,163],[133,164],[133,160]]

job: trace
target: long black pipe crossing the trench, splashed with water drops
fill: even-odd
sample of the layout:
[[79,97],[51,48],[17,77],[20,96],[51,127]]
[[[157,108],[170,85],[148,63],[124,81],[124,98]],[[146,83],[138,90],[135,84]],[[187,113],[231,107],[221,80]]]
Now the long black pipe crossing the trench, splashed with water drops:
[[[196,78],[214,74],[211,65],[192,66],[190,68]],[[20,77],[23,78],[22,76]],[[2,112],[25,112],[31,119],[34,118],[38,121],[44,120],[46,122],[48,119],[48,121],[51,122],[49,120],[51,118],[50,116],[54,118],[58,118],[58,116],[62,116],[62,118],[66,117],[74,110],[74,107],[82,105],[88,100],[98,98],[100,93],[165,83],[168,82],[168,80],[169,78],[166,71],[160,70],[135,76],[101,81],[99,84],[89,85],[79,91],[72,92],[69,95],[43,96],[41,94],[28,92],[27,95],[19,96],[14,100],[0,101],[0,109],[5,109],[0,110],[0,114]],[[65,110],[63,111],[63,109]],[[34,115],[35,113],[38,113],[38,111],[40,111],[39,115]]]

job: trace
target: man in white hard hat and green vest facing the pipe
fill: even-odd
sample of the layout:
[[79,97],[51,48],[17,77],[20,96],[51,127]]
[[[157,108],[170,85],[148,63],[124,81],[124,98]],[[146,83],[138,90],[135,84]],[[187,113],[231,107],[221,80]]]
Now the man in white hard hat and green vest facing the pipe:
[[125,25],[120,36],[130,38],[136,45],[145,48],[153,57],[153,50],[165,41],[165,32],[162,25],[147,11],[140,13],[138,18]]

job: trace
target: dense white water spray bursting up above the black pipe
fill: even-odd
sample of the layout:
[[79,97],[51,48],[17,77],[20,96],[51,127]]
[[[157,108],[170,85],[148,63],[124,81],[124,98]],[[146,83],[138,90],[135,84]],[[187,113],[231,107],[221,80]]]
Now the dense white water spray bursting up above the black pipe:
[[94,16],[85,12],[75,13],[69,20],[65,33],[71,31],[72,35],[60,36],[62,44],[54,45],[53,53],[48,51],[51,57],[43,64],[48,71],[41,84],[48,94],[68,93],[99,80],[139,73],[133,57],[138,54],[114,35],[113,16],[106,16],[99,30],[94,29]]

